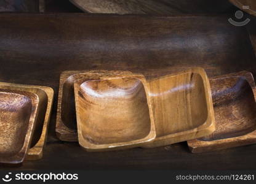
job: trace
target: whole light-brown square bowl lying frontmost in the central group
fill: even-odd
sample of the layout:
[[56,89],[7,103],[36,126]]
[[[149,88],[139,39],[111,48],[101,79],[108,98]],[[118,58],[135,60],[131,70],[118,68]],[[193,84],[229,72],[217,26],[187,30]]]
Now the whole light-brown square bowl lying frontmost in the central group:
[[86,150],[138,147],[156,137],[143,75],[79,79],[74,95],[79,144]]

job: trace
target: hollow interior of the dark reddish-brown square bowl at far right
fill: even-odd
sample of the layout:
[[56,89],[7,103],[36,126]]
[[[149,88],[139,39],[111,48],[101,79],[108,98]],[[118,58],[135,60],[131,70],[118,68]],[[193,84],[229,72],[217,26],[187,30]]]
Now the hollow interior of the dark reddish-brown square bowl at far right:
[[251,86],[244,77],[230,77],[210,82],[216,130],[199,140],[238,137],[256,128],[256,102]]

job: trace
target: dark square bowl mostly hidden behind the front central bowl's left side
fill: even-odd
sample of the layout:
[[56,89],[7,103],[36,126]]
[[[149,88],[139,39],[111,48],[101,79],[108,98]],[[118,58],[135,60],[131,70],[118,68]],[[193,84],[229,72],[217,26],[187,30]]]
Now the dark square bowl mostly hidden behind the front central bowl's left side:
[[58,139],[78,141],[76,110],[74,105],[74,81],[77,79],[100,79],[104,75],[127,74],[129,71],[64,71],[60,75],[56,134]]

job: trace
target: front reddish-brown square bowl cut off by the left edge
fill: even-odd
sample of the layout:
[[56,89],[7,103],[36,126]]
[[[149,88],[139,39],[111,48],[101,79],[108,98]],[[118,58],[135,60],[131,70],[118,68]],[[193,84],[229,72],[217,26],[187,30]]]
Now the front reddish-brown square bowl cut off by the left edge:
[[28,88],[0,83],[0,163],[22,163],[38,125],[39,96]]

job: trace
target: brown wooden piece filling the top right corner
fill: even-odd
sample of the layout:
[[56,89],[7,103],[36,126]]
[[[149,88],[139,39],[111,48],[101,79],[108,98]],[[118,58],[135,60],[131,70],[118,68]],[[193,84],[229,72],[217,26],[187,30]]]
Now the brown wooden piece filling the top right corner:
[[[256,1],[254,0],[230,0],[231,3],[234,4],[234,6],[238,7],[241,10],[246,11],[247,13],[250,13],[251,15],[256,15]],[[248,8],[244,8],[244,7]]]

